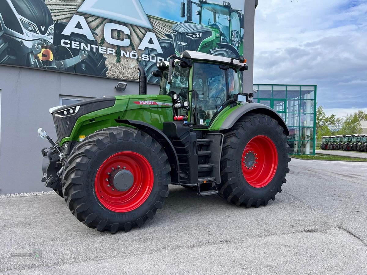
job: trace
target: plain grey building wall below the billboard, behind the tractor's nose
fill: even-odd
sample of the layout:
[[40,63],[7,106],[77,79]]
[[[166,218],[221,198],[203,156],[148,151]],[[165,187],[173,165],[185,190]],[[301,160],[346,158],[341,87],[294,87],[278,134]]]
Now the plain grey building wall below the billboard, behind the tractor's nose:
[[[116,96],[138,94],[138,83],[127,82],[116,92],[117,80],[0,65],[1,156],[0,194],[50,191],[41,182],[41,149],[49,144],[38,137],[42,127],[57,139],[50,107],[59,106],[60,95]],[[148,85],[148,94],[158,93]]]

